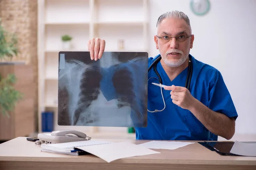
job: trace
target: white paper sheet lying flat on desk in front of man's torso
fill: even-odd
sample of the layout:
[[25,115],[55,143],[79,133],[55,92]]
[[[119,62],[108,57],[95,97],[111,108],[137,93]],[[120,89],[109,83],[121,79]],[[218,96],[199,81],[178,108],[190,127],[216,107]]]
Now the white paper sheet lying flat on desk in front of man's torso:
[[151,141],[143,144],[138,144],[140,146],[149,148],[149,149],[169,149],[174,150],[179,147],[184,147],[195,142],[173,142],[173,141]]

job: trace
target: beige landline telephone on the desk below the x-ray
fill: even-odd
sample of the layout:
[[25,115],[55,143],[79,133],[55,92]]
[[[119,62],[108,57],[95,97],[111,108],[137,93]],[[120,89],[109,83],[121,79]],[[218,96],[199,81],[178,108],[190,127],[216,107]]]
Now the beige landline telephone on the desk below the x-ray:
[[52,133],[39,133],[38,139],[41,144],[56,144],[65,142],[87,141],[90,140],[91,137],[77,130],[55,130]]

